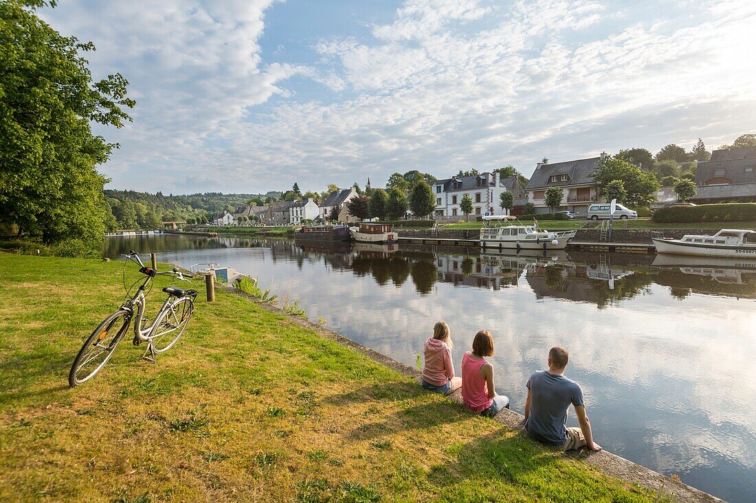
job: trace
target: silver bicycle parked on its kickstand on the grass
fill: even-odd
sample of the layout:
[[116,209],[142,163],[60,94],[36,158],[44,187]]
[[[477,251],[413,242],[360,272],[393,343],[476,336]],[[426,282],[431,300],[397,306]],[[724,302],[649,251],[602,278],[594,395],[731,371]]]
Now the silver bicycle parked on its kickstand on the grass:
[[[164,272],[146,267],[142,264],[139,254],[133,250],[129,252],[129,255],[123,256],[137,264],[140,267],[139,272],[147,277],[144,278],[144,281],[137,279],[131,288],[126,289],[126,301],[115,313],[107,316],[98,325],[86,340],[82,349],[79,350],[68,375],[68,384],[71,387],[88,381],[102,370],[110,360],[110,356],[113,356],[126,332],[129,332],[129,326],[131,326],[134,316],[136,316],[136,320],[134,322],[133,343],[138,346],[147,342],[147,349],[144,350],[142,359],[155,363],[157,353],[163,353],[176,344],[178,338],[186,330],[191,314],[194,313],[194,299],[197,298],[199,292],[192,289],[184,290],[175,286],[166,286],[163,292],[168,294],[168,298],[163,302],[163,307],[160,307],[160,311],[158,311],[152,323],[143,326],[147,322],[147,318],[144,317],[146,298],[151,290],[147,290],[147,285],[150,285],[155,276],[174,276],[187,282],[189,282],[189,279],[186,278],[194,276],[181,273],[175,267]],[[142,283],[139,285],[136,294],[132,298],[128,298],[131,289],[140,281]],[[145,293],[145,290],[147,290],[147,293]],[[109,335],[110,337],[108,337]],[[147,356],[148,354],[149,356]]]

